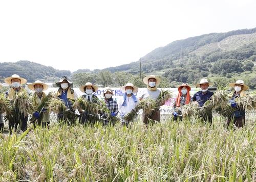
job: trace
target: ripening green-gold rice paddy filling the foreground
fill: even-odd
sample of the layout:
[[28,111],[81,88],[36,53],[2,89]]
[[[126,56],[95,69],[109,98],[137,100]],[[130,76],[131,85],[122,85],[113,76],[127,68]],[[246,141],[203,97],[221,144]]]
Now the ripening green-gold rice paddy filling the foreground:
[[0,181],[255,181],[255,117],[227,129],[171,118],[147,127],[52,122],[0,134]]

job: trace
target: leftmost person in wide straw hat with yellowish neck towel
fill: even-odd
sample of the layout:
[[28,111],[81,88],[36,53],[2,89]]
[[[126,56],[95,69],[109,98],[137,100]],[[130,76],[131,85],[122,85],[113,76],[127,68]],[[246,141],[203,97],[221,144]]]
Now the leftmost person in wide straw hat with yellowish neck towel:
[[[22,85],[26,84],[27,80],[17,74],[13,74],[12,76],[7,77],[5,79],[5,83],[11,86],[9,91],[6,92],[6,96],[10,100],[14,100],[19,92],[26,91],[24,88],[22,88]],[[17,113],[19,119],[9,119],[9,132],[12,133],[12,129],[16,131],[18,125],[20,126],[20,129],[25,132],[27,130],[28,116],[20,113],[17,108],[14,108],[14,112]]]

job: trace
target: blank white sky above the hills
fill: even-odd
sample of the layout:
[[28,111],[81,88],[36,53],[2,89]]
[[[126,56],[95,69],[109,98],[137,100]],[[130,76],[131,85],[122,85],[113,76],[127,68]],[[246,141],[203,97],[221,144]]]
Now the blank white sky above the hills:
[[1,1],[0,62],[103,69],[157,47],[256,27],[254,0]]

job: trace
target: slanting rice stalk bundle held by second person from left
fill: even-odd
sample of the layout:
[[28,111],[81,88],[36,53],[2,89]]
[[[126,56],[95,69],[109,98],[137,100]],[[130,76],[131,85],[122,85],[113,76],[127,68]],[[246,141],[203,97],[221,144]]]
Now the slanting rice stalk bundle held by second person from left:
[[35,111],[40,113],[40,116],[38,119],[36,119],[34,116],[32,116],[32,118],[30,119],[30,121],[32,123],[35,123],[36,120],[37,122],[40,124],[42,118],[44,117],[44,112],[41,112],[42,108],[48,108],[49,107],[49,101],[54,98],[54,95],[52,92],[49,92],[40,102],[40,104],[37,106],[37,108],[35,109]]

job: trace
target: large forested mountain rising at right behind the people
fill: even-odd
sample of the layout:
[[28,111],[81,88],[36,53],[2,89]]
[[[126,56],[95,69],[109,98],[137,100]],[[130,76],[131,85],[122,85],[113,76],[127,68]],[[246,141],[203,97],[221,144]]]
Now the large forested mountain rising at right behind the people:
[[[174,41],[142,57],[141,69],[146,74],[162,75],[169,82],[192,83],[209,75],[230,77],[234,73],[253,72],[255,59],[256,28],[253,28]],[[104,70],[137,74],[140,61]]]

